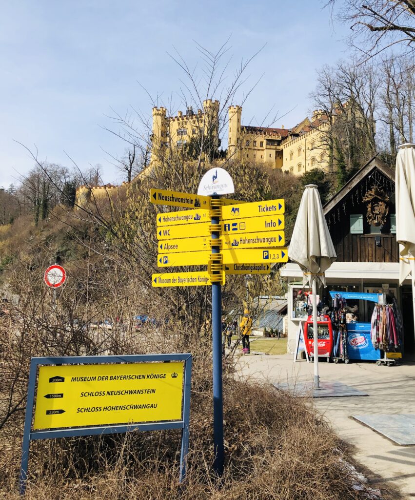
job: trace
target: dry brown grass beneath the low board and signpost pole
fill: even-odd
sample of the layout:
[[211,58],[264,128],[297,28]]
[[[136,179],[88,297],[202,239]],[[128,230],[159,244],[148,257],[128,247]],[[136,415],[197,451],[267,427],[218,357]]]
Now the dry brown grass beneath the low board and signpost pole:
[[[197,375],[196,375],[197,376]],[[27,500],[358,498],[338,440],[303,400],[225,379],[225,474],[213,475],[212,400],[193,380],[188,475],[178,486],[177,431],[134,432],[32,444]],[[207,389],[207,390],[206,390]],[[5,444],[2,435],[3,446]],[[0,497],[18,494],[20,439],[1,456]]]

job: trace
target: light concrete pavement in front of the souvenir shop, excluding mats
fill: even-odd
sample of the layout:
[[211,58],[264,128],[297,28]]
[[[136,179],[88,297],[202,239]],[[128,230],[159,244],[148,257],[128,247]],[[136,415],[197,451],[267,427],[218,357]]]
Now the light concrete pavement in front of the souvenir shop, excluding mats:
[[[238,371],[242,378],[270,382],[312,381],[314,364],[293,362],[292,355],[241,356]],[[352,385],[366,397],[314,398],[315,406],[332,423],[339,436],[351,445],[351,454],[359,462],[373,487],[387,488],[398,498],[415,496],[415,446],[399,446],[350,418],[356,414],[414,413],[415,364],[377,366],[373,362],[319,363],[324,381]],[[371,471],[371,472],[369,472]],[[401,496],[399,496],[399,492]]]

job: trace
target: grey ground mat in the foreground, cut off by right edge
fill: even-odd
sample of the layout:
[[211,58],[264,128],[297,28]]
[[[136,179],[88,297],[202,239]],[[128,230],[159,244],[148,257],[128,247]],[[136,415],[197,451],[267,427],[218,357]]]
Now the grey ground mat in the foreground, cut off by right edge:
[[353,415],[353,418],[401,445],[415,444],[415,415]]

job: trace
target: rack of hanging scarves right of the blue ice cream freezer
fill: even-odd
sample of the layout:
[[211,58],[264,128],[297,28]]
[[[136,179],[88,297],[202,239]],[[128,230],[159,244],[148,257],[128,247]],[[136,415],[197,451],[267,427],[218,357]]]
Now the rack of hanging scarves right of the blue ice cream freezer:
[[398,304],[376,304],[371,321],[371,340],[376,349],[385,352],[401,350],[403,322]]

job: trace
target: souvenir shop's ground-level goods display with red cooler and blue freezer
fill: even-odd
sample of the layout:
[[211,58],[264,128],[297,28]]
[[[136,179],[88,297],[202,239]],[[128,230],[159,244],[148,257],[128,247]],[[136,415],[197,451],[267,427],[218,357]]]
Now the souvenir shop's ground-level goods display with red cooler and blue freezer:
[[[335,363],[373,361],[392,365],[405,355],[397,290],[370,284],[363,287],[366,291],[348,291],[359,290],[358,285],[332,284],[317,295],[319,357]],[[289,349],[296,342],[300,322],[306,345],[307,338],[313,338],[311,290],[297,282],[290,285],[290,295]],[[309,343],[311,346],[312,340]],[[312,351],[309,354],[314,355]]]

